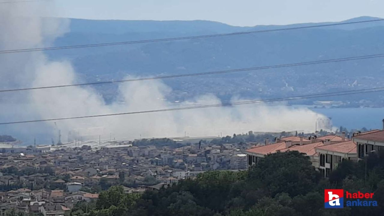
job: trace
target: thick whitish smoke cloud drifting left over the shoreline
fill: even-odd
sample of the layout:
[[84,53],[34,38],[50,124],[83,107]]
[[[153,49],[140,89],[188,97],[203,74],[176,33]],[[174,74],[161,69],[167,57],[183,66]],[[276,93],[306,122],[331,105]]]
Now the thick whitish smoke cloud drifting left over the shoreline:
[[[23,17],[26,10],[28,18]],[[49,46],[55,38],[68,32],[69,20],[31,16],[38,15],[40,10],[18,5],[0,8],[1,50]],[[2,89],[79,82],[70,61],[50,61],[42,52],[2,54],[0,67]],[[4,93],[0,95],[0,120],[61,118],[220,103],[212,94],[190,98],[189,102],[170,103],[165,98],[171,91],[159,80],[123,83],[119,86],[119,100],[109,105],[90,86]],[[189,136],[231,135],[249,130],[308,132],[314,131],[318,118],[325,119],[304,108],[258,104],[8,125],[0,127],[0,133],[22,137],[28,143],[34,136],[40,136],[45,142],[53,137],[56,142],[58,130],[63,134],[63,142],[69,133],[70,137],[86,140],[99,135],[104,139],[110,136],[132,139],[184,136],[185,132]]]

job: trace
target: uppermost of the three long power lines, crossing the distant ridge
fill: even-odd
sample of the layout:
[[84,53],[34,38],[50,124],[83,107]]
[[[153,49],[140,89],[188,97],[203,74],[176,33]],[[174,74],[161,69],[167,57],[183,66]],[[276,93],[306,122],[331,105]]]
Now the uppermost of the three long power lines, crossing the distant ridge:
[[277,28],[277,29],[257,30],[257,31],[249,31],[249,32],[234,32],[234,33],[224,33],[224,34],[215,34],[215,35],[199,35],[199,36],[190,36],[190,37],[136,40],[136,41],[125,41],[125,42],[113,42],[113,43],[94,43],[94,44],[70,45],[70,46],[61,46],[61,47],[41,47],[41,48],[27,48],[27,49],[15,49],[15,50],[0,50],[0,54],[35,52],[35,51],[44,51],[44,50],[63,50],[63,49],[86,48],[86,47],[105,47],[105,46],[128,45],[128,44],[136,44],[136,43],[164,42],[164,41],[187,40],[187,39],[195,39],[195,38],[211,38],[211,37],[223,37],[223,36],[232,36],[232,35],[246,35],[246,34],[255,34],[255,33],[263,33],[263,32],[279,32],[279,31],[286,31],[286,30],[297,30],[297,29],[303,29],[303,28],[318,28],[318,27],[329,27],[329,26],[337,26],[337,25],[349,25],[349,24],[356,24],[356,23],[377,22],[382,20],[384,19],[332,23],[332,24],[324,24],[324,25],[309,25],[309,26],[291,27],[291,28]]

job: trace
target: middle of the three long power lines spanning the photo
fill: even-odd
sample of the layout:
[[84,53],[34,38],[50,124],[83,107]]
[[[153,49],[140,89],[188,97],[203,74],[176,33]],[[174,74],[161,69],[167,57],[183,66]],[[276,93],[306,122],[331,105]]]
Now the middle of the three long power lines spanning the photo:
[[291,66],[315,65],[315,64],[324,64],[324,63],[332,63],[332,62],[340,62],[340,61],[353,61],[353,60],[362,60],[362,59],[369,59],[369,58],[382,58],[382,57],[384,57],[384,53],[374,54],[374,55],[353,56],[353,57],[346,57],[346,58],[335,58],[335,59],[328,59],[328,60],[306,61],[306,62],[281,64],[281,65],[269,65],[269,66],[260,66],[260,67],[252,67],[252,68],[239,68],[239,69],[232,69],[232,70],[210,71],[210,72],[202,72],[202,73],[187,73],[187,74],[180,74],[180,75],[155,76],[155,77],[147,77],[147,78],[128,79],[128,80],[114,80],[114,81],[102,81],[102,82],[92,82],[92,83],[42,86],[42,87],[33,87],[33,88],[17,88],[17,89],[0,90],[0,93],[10,92],[10,91],[46,89],[46,88],[62,88],[62,87],[69,87],[69,86],[85,86],[85,85],[122,83],[122,82],[141,81],[141,80],[158,80],[158,79],[166,79],[166,78],[185,77],[185,76],[212,75],[212,74],[220,74],[220,73],[232,73],[232,72],[241,72],[241,71],[272,69],[272,68],[284,68],[284,67],[291,67]]

